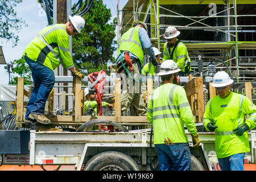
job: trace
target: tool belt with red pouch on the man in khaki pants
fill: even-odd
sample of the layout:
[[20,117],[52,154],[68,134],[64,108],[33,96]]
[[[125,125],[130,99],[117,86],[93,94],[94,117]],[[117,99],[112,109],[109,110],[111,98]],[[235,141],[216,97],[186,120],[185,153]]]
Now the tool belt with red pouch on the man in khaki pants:
[[123,59],[121,57],[117,61],[117,63],[115,63],[115,69],[116,69],[117,73],[121,73],[124,69],[123,66],[122,66],[122,64],[123,64],[125,66],[125,68],[130,67],[130,73],[133,74],[134,73],[133,64],[134,63],[141,64],[141,62],[139,61],[139,59],[131,60],[130,55],[129,55],[129,51],[124,51],[124,52],[125,52],[125,63],[123,63]]

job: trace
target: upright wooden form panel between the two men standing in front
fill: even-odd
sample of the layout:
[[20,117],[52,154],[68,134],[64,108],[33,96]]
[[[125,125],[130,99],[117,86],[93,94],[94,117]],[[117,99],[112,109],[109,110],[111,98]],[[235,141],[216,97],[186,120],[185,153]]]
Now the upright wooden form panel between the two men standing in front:
[[[195,77],[185,84],[185,92],[191,105],[195,122],[203,122],[204,117],[204,93],[203,77]],[[193,99],[192,99],[193,97]]]

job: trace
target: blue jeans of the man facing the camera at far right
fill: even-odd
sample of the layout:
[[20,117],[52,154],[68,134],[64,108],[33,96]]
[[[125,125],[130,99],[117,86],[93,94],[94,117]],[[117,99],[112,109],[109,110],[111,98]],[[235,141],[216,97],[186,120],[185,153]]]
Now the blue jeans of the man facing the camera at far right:
[[230,155],[227,158],[218,158],[222,171],[244,171],[245,153]]

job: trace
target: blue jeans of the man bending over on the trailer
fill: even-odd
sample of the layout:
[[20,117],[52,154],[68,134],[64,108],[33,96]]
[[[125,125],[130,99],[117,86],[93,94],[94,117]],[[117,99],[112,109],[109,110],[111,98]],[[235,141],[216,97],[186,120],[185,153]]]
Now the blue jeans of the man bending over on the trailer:
[[25,119],[30,119],[28,117],[30,113],[44,114],[46,100],[55,84],[55,76],[54,72],[48,67],[29,59],[27,56],[24,56],[24,58],[31,69],[35,86],[28,101],[25,115]]

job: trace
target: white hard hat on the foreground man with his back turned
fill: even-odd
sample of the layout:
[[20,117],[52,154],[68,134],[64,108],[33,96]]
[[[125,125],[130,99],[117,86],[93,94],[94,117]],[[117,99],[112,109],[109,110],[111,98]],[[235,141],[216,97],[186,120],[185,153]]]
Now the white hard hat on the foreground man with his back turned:
[[163,61],[163,63],[161,64],[160,72],[158,73],[158,76],[170,75],[173,73],[177,73],[179,71],[181,71],[181,69],[174,62],[174,60],[169,59],[169,60]]

